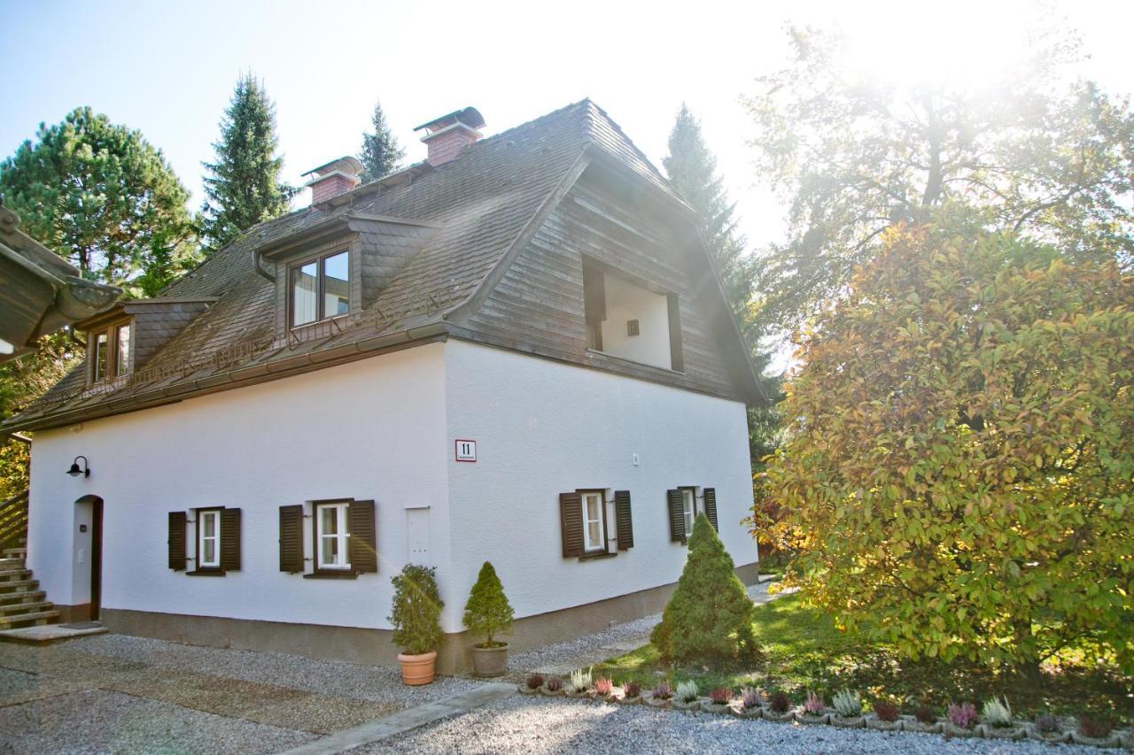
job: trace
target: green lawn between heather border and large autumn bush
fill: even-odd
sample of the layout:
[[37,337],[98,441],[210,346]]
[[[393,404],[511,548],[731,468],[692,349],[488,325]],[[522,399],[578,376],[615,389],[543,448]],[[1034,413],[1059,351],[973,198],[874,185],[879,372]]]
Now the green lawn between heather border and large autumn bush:
[[1042,679],[997,676],[967,663],[909,661],[891,648],[870,645],[837,630],[826,614],[804,608],[798,595],[787,595],[756,609],[756,636],[764,659],[752,668],[670,668],[652,645],[611,659],[594,676],[616,682],[637,681],[651,688],[661,675],[674,682],[695,679],[703,692],[744,685],[780,688],[799,702],[809,689],[827,699],[843,688],[858,689],[863,698],[880,696],[924,701],[943,709],[950,701],[972,701],[978,707],[993,695],[1006,695],[1013,710],[1031,718],[1050,710],[1059,714],[1093,712],[1134,721],[1134,679],[1108,668],[1044,670]]

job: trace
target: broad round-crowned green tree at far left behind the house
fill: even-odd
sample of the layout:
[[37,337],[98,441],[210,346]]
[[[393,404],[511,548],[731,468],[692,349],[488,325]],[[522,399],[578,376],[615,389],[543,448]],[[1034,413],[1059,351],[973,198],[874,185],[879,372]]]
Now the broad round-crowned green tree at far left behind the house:
[[84,278],[152,296],[192,265],[188,192],[142,134],[76,108],[0,162],[20,230]]

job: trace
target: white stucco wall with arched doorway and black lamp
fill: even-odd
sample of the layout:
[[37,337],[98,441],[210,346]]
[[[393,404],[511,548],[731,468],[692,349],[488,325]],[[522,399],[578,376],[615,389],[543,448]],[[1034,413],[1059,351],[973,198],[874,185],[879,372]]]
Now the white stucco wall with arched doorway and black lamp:
[[[406,507],[429,507],[413,516],[425,517],[431,560],[448,567],[443,348],[36,433],[28,560],[48,599],[90,597],[88,572],[75,568],[75,501],[95,494],[104,500],[103,608],[388,628],[390,577],[408,548]],[[65,474],[79,453],[90,478]],[[379,574],[279,571],[279,507],[340,497],[375,500]],[[168,512],[209,504],[242,509],[240,571],[171,571]],[[192,555],[192,525],[188,537]],[[310,558],[310,529],[304,548]],[[447,625],[459,625],[457,608]]]

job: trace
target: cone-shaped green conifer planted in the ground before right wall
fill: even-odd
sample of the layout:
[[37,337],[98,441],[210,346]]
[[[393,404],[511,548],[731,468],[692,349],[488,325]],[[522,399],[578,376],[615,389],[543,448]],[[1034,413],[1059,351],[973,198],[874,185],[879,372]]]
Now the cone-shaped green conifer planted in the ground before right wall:
[[663,659],[717,663],[756,658],[755,606],[733,567],[717,531],[704,514],[697,515],[682,578],[650,636]]

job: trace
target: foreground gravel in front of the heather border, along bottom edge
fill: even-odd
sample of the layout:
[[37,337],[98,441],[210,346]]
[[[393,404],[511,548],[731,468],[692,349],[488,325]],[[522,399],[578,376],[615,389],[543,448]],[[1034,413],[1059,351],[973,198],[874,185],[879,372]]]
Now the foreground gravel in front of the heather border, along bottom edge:
[[516,695],[357,753],[987,753],[1099,755],[1093,747],[802,727]]

